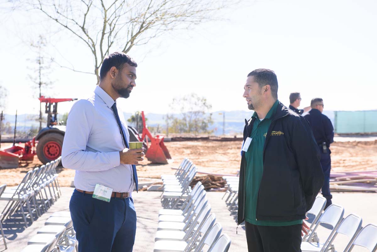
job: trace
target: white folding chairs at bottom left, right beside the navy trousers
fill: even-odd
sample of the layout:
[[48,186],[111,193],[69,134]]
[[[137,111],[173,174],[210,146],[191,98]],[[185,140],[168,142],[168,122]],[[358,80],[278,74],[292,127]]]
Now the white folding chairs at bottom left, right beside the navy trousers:
[[78,252],[70,212],[54,212],[21,252]]

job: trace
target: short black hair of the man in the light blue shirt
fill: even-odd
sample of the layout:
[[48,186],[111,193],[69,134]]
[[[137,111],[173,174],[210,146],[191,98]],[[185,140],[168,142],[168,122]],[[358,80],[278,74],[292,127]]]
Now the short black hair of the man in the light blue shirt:
[[122,69],[125,63],[127,63],[130,66],[138,66],[138,64],[136,64],[136,62],[124,52],[113,52],[109,56],[106,56],[101,66],[101,80],[105,78],[107,72],[109,72],[113,66],[115,66],[116,69]]

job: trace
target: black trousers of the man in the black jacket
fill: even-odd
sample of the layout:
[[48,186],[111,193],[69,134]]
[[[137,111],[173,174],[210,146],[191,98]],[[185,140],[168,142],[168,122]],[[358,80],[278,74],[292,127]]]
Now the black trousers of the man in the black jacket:
[[248,252],[301,252],[302,225],[256,226],[245,221]]

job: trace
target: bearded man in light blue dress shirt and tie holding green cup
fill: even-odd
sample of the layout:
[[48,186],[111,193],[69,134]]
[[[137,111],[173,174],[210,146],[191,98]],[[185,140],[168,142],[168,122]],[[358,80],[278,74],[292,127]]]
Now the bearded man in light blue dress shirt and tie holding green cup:
[[[137,64],[123,52],[107,56],[93,95],[69,112],[62,164],[76,170],[69,209],[79,252],[131,252],[136,212],[131,193],[135,164],[144,149],[129,149],[129,133],[117,98],[135,88]],[[136,188],[137,189],[137,188]]]

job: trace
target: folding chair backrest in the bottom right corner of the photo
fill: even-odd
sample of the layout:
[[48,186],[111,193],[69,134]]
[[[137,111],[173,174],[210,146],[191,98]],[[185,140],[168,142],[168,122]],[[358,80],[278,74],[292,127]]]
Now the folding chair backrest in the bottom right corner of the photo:
[[369,252],[375,252],[377,250],[377,226],[374,224],[366,225],[360,233],[357,234],[348,252],[350,252],[354,246],[362,246],[368,249]]

